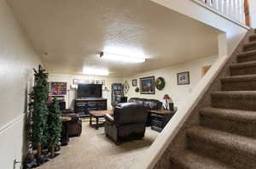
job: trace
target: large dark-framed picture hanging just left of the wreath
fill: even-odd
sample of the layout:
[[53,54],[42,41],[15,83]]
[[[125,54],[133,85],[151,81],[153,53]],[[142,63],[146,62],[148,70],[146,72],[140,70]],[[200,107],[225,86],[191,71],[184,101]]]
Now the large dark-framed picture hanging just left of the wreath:
[[141,94],[154,94],[154,76],[140,78]]

